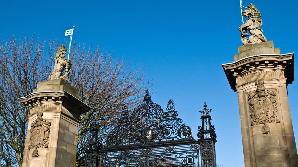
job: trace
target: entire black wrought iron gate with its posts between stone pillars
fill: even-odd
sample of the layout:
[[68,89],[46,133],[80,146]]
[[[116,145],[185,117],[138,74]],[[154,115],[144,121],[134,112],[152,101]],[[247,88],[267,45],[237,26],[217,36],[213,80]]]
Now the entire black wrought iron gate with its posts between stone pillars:
[[195,140],[191,128],[177,117],[173,100],[164,111],[147,90],[136,109],[122,109],[118,124],[106,136],[98,140],[97,129],[91,130],[85,167],[216,167],[216,134],[206,107],[200,111],[202,126]]

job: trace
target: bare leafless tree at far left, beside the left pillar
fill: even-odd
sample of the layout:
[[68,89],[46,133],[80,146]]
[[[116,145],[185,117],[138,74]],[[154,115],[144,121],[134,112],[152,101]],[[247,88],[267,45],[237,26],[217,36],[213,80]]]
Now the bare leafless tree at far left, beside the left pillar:
[[44,42],[34,36],[2,40],[0,45],[0,165],[22,165],[29,110],[18,97],[27,96],[42,81]]

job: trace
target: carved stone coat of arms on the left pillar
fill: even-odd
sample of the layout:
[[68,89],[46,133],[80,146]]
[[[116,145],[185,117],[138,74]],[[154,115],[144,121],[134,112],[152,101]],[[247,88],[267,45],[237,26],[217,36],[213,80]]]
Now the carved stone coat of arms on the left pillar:
[[51,123],[42,119],[42,113],[37,113],[37,119],[31,124],[29,149],[35,148],[32,157],[38,157],[37,148],[48,148]]

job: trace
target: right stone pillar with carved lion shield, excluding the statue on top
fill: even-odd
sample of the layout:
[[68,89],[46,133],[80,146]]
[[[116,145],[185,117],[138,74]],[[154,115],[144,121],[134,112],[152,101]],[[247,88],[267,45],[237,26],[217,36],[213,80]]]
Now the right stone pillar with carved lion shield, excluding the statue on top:
[[298,166],[287,92],[294,53],[280,54],[272,41],[238,52],[223,68],[238,94],[245,167]]

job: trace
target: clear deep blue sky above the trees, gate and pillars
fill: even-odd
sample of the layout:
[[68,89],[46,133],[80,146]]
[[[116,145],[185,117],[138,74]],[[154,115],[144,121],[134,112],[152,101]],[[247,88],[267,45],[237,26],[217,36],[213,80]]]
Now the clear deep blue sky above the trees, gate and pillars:
[[[249,5],[243,0],[243,5]],[[264,35],[281,53],[297,52],[298,1],[253,1],[263,19]],[[221,64],[233,62],[241,46],[239,1],[2,1],[0,37],[64,40],[75,24],[77,43],[97,44],[124,57],[134,67],[144,65],[154,77],[151,99],[164,109],[173,99],[195,138],[204,101],[212,109],[216,158],[226,167],[244,166],[237,93]],[[295,57],[297,62],[297,58]],[[297,78],[298,68],[295,68]],[[295,137],[298,139],[298,83],[288,86]],[[296,140],[297,143],[298,140]]]

